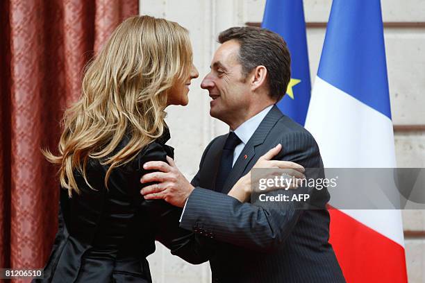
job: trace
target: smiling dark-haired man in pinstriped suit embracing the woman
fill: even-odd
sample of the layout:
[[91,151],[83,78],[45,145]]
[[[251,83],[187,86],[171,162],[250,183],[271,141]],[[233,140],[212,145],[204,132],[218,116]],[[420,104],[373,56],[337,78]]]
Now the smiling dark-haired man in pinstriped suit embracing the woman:
[[[163,173],[144,176],[145,198],[184,206],[181,228],[192,230],[213,252],[213,282],[344,282],[329,237],[328,193],[317,191],[319,209],[294,203],[276,209],[226,195],[258,158],[276,144],[274,159],[323,168],[310,133],[275,103],[290,80],[290,55],[282,38],[263,28],[229,28],[201,87],[212,101],[210,115],[230,126],[203,152],[191,184],[174,162],[149,162]],[[213,247],[213,248],[211,248]]]

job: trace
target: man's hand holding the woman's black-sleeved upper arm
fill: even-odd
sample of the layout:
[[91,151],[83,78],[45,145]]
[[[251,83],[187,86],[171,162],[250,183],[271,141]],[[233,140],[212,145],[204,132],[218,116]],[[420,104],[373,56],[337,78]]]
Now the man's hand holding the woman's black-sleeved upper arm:
[[145,170],[158,170],[143,175],[142,184],[157,182],[157,184],[144,187],[140,193],[147,200],[163,199],[177,207],[185,206],[186,200],[194,187],[178,170],[174,160],[167,156],[169,164],[162,161],[149,161],[143,164]]

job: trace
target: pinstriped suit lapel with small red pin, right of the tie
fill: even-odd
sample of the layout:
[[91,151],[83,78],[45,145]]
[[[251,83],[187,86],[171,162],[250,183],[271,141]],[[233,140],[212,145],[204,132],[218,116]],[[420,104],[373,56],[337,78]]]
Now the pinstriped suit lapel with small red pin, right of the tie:
[[[253,133],[251,139],[249,139],[247,145],[240,153],[235,165],[233,165],[232,171],[228,175],[226,183],[224,184],[222,190],[223,194],[227,194],[233,185],[235,185],[235,182],[242,177],[242,173],[245,169],[247,169],[247,166],[250,164],[251,160],[253,160],[253,157],[256,156],[256,146],[263,144],[270,130],[272,130],[273,126],[276,124],[278,119],[281,119],[282,116],[283,114],[281,110],[279,110],[276,105],[274,105],[269,113],[267,113],[266,117],[263,121],[261,121],[260,126],[258,126],[257,130]],[[256,156],[252,163],[256,162],[259,157],[260,156]],[[253,166],[253,164],[251,164],[251,166]]]

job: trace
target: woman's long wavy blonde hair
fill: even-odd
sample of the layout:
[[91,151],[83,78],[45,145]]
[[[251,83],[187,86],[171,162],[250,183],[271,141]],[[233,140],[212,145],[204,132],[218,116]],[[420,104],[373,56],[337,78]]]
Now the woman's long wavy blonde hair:
[[[43,151],[60,164],[60,185],[78,194],[74,171],[86,177],[90,158],[111,171],[163,135],[167,92],[190,76],[188,31],[175,22],[149,16],[120,24],[85,68],[81,98],[65,111],[59,154]],[[124,135],[128,144],[114,152]],[[93,188],[92,188],[93,189]]]

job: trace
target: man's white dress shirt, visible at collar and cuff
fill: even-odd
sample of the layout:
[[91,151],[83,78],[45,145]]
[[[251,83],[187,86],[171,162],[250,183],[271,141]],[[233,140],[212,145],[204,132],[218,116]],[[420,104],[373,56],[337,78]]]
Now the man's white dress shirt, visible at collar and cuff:
[[[273,105],[268,106],[263,111],[256,114],[256,116],[253,116],[249,120],[244,121],[242,125],[234,130],[235,135],[237,135],[242,142],[238,144],[238,146],[235,147],[235,151],[233,151],[232,167],[235,165],[235,162],[238,160],[240,153],[242,153],[242,150],[247,145],[249,139],[251,139],[253,133],[257,130],[258,126],[260,126],[261,121],[263,121],[264,117],[266,117],[267,113],[269,113],[272,107]],[[186,200],[186,203],[188,203],[188,200]],[[186,203],[180,216],[180,222],[181,218],[183,218],[183,214],[185,214]]]

